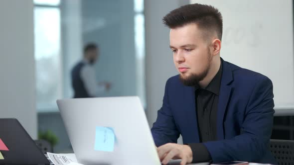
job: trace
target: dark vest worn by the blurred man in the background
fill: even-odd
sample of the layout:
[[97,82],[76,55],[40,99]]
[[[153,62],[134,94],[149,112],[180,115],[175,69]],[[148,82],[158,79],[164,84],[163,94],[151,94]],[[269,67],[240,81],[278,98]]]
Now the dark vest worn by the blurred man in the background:
[[85,66],[83,62],[79,62],[71,70],[71,82],[74,89],[74,98],[92,97],[88,94],[85,84],[81,78],[81,70]]

